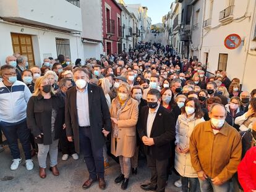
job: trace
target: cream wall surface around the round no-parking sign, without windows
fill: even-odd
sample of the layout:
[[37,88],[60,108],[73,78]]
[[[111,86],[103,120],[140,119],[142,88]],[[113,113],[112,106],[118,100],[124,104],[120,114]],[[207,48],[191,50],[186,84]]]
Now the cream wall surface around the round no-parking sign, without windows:
[[[254,12],[254,2],[250,1],[248,13]],[[235,0],[234,19],[242,17],[245,14],[247,1]],[[239,22],[229,23],[228,25],[220,25],[219,15],[220,11],[226,8],[226,3],[223,1],[214,1],[213,4],[213,20],[211,20],[211,30],[204,32],[201,58],[204,58],[204,53],[208,52],[208,68],[207,70],[214,73],[218,69],[219,54],[228,54],[227,73],[229,78],[239,78],[241,81],[244,77],[244,65],[247,56],[246,44],[250,40],[250,26],[253,20],[244,19]],[[224,39],[226,36],[237,33],[241,36],[244,43],[241,43],[237,49],[227,49],[224,46]],[[204,61],[203,61],[204,62]],[[252,67],[252,66],[251,66]],[[244,82],[241,82],[244,83]]]

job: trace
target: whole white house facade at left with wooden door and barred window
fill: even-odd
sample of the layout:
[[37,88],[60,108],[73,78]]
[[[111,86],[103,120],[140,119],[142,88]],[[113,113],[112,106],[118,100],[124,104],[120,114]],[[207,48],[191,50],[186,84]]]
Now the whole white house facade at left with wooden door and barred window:
[[[56,11],[56,7],[68,11]],[[73,62],[83,58],[79,1],[0,1],[0,17],[1,65],[14,52],[27,56],[30,66],[40,66],[45,57],[55,59],[59,54]]]

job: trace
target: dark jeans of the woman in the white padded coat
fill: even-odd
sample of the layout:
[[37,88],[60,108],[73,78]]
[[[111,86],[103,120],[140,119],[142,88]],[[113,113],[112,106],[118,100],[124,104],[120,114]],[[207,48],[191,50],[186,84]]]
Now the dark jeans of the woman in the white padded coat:
[[200,192],[198,178],[181,177],[182,192]]

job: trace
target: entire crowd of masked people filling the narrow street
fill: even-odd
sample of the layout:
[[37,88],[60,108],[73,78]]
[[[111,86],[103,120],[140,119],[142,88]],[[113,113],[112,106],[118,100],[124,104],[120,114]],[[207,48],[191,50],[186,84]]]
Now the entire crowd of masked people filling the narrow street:
[[[62,161],[84,157],[89,172],[83,189],[106,188],[109,157],[120,165],[115,183],[126,190],[139,157],[151,178],[140,187],[165,191],[256,191],[256,89],[242,90],[223,70],[206,75],[197,59],[181,59],[169,47],[140,42],[101,60],[59,55],[28,65],[18,53],[6,57],[0,80],[2,133],[12,155],[11,170],[39,164],[39,176],[58,176]],[[37,159],[32,157],[37,154]],[[118,174],[118,173],[117,173]]]

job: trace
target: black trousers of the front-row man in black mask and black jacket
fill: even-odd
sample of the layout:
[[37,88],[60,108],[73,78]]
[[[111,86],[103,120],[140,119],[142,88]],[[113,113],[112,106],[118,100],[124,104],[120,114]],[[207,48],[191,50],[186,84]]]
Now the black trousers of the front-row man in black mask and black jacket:
[[151,155],[147,155],[148,167],[151,171],[150,183],[152,186],[157,185],[157,192],[163,192],[166,186],[168,169],[168,159],[158,160]]

